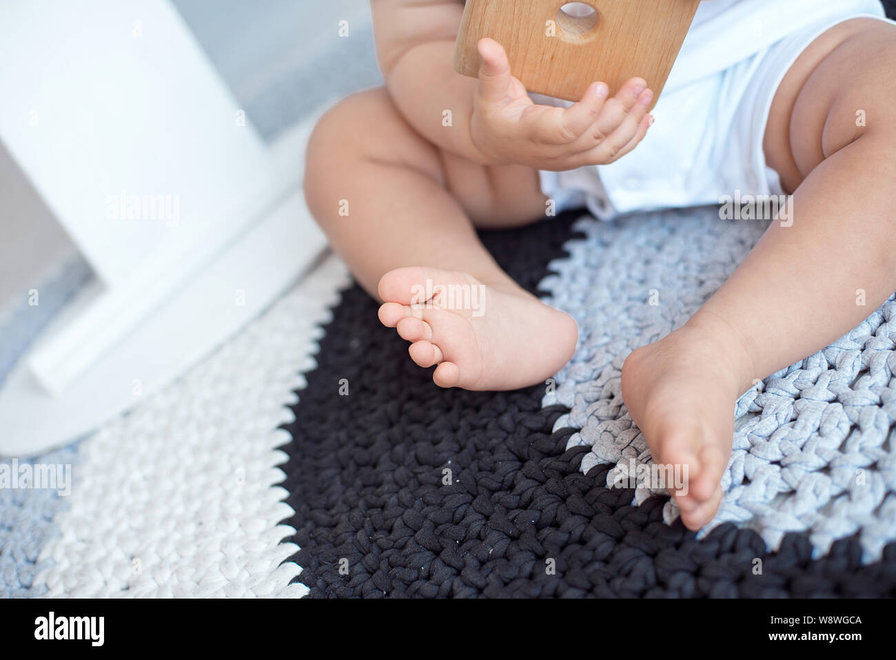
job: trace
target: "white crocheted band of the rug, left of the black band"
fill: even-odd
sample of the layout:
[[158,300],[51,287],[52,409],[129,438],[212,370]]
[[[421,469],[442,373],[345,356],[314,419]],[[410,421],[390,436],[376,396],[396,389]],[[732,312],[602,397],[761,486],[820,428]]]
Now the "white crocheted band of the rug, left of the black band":
[[47,596],[300,597],[295,530],[274,484],[314,368],[320,324],[349,282],[327,258],[184,378],[80,446],[61,534],[40,555]]

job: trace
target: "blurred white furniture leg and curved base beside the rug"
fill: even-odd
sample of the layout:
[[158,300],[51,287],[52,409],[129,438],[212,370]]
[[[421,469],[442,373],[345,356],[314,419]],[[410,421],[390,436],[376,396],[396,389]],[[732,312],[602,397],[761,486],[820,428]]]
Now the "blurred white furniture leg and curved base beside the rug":
[[22,456],[177,377],[325,241],[311,123],[263,143],[166,0],[4,0],[0,61],[0,141],[100,282],[0,389],[0,455]]

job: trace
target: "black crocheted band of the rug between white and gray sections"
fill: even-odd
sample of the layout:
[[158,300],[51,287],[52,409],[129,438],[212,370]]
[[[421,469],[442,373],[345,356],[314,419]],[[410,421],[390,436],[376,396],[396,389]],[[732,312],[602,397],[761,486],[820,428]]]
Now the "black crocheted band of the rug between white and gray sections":
[[[483,238],[535,291],[578,215]],[[284,427],[297,530],[284,541],[311,597],[896,595],[896,543],[871,565],[853,538],[813,560],[802,534],[770,553],[735,525],[698,541],[664,524],[665,498],[631,506],[608,465],[580,472],[586,449],[552,432],[564,409],[541,408],[543,386],[439,389],[376,308],[344,292]]]

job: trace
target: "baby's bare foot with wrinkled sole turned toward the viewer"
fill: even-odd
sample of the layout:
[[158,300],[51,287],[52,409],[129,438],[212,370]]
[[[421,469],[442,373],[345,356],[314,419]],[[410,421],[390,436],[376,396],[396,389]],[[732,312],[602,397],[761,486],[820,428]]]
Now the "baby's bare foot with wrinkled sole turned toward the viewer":
[[379,317],[411,342],[441,387],[508,390],[544,382],[569,361],[578,328],[515,283],[460,271],[398,268],[379,283]]

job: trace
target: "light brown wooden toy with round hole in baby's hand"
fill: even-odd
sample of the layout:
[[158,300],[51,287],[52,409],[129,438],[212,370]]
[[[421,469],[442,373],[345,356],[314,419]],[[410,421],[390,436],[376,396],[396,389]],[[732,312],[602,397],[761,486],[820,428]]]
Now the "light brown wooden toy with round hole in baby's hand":
[[610,95],[634,76],[653,104],[666,84],[700,0],[467,0],[454,69],[476,76],[483,37],[504,46],[529,91],[580,100],[590,83]]

